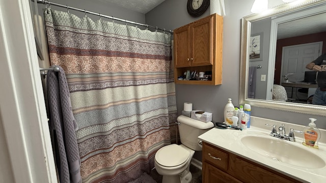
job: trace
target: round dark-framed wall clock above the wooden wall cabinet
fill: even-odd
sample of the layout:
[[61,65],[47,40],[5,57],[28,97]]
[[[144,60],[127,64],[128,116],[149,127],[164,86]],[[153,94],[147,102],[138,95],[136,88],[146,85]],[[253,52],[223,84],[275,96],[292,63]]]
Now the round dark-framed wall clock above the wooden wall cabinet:
[[188,0],[187,11],[189,15],[198,17],[202,15],[209,6],[209,0]]

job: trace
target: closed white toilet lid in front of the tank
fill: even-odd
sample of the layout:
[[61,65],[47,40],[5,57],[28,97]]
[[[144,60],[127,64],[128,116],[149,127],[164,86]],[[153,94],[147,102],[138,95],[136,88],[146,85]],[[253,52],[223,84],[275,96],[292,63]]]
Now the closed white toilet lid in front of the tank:
[[174,167],[187,161],[189,156],[188,150],[177,144],[171,144],[160,148],[155,155],[155,160],[162,166]]

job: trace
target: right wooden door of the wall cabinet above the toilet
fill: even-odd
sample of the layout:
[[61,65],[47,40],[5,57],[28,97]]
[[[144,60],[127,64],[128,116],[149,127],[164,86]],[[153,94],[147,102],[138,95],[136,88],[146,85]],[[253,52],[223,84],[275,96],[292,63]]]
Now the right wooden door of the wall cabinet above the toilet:
[[214,16],[203,18],[191,26],[192,66],[213,64]]

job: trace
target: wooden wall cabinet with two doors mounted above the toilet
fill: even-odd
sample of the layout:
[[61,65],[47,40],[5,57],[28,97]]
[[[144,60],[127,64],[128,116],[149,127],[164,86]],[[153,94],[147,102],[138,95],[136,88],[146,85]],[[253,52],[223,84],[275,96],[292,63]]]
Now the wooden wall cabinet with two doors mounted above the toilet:
[[[181,84],[222,84],[223,17],[212,14],[174,29],[174,80]],[[212,72],[210,81],[178,80],[189,71]]]

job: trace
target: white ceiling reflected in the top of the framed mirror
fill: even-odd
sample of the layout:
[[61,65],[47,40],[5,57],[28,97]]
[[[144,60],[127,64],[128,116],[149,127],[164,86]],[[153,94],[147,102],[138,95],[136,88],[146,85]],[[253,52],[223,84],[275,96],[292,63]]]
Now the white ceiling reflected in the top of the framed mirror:
[[326,32],[326,13],[278,24],[277,39]]

